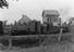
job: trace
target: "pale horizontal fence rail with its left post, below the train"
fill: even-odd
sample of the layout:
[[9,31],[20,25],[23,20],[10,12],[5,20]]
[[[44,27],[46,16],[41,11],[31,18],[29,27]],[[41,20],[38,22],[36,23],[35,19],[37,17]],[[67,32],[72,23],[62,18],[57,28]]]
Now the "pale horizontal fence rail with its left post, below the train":
[[[71,32],[67,32],[67,34],[62,34],[61,35],[61,37],[63,37],[63,36],[71,36],[71,37],[73,37],[74,35],[73,34],[71,34]],[[57,35],[28,35],[28,36],[1,36],[0,37],[0,40],[1,39],[8,39],[9,40],[9,49],[10,48],[12,48],[12,40],[14,39],[39,39],[40,37],[58,37],[59,38],[59,34],[57,34]],[[40,42],[40,41],[39,41]]]

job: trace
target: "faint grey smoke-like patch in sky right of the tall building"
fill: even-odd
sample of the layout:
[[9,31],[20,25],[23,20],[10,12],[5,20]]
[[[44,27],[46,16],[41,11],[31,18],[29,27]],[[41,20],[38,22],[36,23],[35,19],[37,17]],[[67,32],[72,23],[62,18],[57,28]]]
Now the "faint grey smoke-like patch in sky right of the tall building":
[[63,6],[59,9],[60,17],[62,18],[62,22],[66,22],[70,15],[72,8],[71,6]]

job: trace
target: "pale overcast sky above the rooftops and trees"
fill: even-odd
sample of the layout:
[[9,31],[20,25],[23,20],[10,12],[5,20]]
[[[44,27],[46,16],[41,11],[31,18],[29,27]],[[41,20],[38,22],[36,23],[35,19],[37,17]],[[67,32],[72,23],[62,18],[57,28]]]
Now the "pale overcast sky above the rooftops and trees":
[[74,0],[20,0],[12,1],[9,9],[0,9],[0,20],[8,20],[8,23],[18,21],[22,14],[26,14],[29,18],[42,21],[42,10],[59,10],[62,20],[74,16]]

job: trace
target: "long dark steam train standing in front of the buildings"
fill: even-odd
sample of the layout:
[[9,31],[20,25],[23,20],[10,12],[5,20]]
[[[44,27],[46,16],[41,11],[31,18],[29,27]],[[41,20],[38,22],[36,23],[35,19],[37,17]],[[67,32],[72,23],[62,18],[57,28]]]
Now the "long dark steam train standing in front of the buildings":
[[59,27],[46,24],[41,24],[38,21],[32,21],[26,25],[20,25],[16,27],[12,27],[11,35],[13,36],[22,36],[22,35],[51,35],[51,34],[59,34],[60,28],[63,28],[63,32],[69,32],[69,27]]

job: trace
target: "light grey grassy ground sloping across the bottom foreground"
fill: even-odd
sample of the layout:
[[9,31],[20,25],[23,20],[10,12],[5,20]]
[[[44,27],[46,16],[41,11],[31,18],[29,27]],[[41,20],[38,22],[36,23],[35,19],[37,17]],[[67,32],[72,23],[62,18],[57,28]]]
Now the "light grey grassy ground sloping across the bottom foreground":
[[[74,37],[72,38],[74,41]],[[74,42],[65,41],[64,43],[49,44],[49,40],[45,42],[46,46],[33,47],[28,49],[12,49],[0,50],[0,52],[74,52]],[[5,47],[8,48],[8,47]]]

